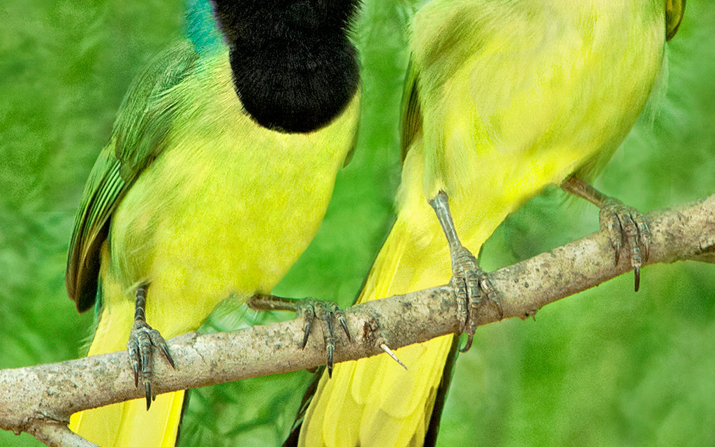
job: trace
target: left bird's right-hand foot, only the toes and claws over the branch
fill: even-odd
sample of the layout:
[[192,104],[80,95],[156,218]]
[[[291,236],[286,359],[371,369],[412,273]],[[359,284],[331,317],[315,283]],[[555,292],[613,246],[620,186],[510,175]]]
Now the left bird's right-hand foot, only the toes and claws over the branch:
[[350,330],[347,329],[345,312],[332,301],[305,298],[304,300],[300,300],[300,303],[298,303],[297,317],[302,317],[305,321],[303,324],[303,341],[300,345],[300,347],[304,349],[308,342],[310,330],[312,330],[313,321],[315,318],[319,318],[322,321],[322,324],[325,327],[322,331],[322,335],[323,340],[325,341],[325,351],[327,353],[327,375],[328,377],[332,377],[332,353],[335,351],[335,330],[333,330],[332,326],[333,318],[340,323],[340,327],[342,327],[343,332],[347,335],[347,340],[352,340]]

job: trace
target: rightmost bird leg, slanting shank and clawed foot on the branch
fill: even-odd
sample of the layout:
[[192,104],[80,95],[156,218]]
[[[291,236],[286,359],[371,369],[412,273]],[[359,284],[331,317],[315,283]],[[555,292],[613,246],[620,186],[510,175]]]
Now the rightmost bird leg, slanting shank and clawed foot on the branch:
[[641,266],[648,260],[651,245],[651,230],[644,216],[635,208],[623,205],[620,200],[603,195],[575,175],[568,177],[561,184],[561,189],[601,208],[598,220],[601,222],[601,231],[608,233],[611,247],[616,252],[616,264],[621,257],[624,242],[628,242],[635,289],[638,292],[641,285]]

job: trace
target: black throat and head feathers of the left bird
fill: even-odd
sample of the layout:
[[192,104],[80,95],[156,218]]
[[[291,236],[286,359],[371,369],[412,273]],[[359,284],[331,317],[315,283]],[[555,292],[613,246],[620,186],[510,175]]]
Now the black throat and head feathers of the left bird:
[[360,81],[348,38],[359,0],[215,0],[236,93],[258,124],[311,132]]

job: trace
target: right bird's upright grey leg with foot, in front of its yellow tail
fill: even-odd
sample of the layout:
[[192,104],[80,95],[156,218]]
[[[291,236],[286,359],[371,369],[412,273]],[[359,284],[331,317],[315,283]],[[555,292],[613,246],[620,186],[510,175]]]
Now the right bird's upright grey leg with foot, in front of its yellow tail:
[[479,268],[474,255],[462,245],[457,237],[457,230],[449,211],[447,193],[440,191],[433,200],[430,200],[430,205],[435,210],[437,219],[447,237],[452,256],[450,284],[457,295],[460,329],[467,333],[467,344],[460,349],[460,352],[466,352],[472,345],[483,298],[487,298],[488,303],[497,308],[500,317],[503,316],[501,299],[498,290],[489,279],[489,275]]

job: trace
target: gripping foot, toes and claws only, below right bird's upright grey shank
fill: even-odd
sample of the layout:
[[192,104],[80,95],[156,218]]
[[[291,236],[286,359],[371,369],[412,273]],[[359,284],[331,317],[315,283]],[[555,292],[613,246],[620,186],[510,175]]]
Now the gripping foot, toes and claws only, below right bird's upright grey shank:
[[460,330],[467,334],[467,343],[460,348],[460,352],[465,353],[472,347],[478,316],[483,312],[483,303],[486,301],[486,305],[495,308],[500,320],[504,316],[504,310],[501,308],[501,295],[489,275],[479,268],[474,255],[463,245],[453,252],[452,272],[450,284],[457,295]]

